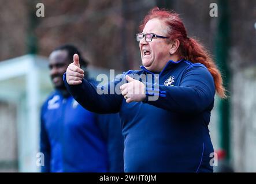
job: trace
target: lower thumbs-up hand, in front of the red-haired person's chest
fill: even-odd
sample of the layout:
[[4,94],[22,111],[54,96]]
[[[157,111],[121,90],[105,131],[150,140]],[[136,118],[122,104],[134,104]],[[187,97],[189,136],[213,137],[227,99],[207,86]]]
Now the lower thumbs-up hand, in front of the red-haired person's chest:
[[146,86],[142,82],[131,78],[129,75],[126,75],[125,79],[128,81],[128,83],[120,86],[120,90],[121,94],[126,99],[126,102],[130,103],[143,101],[146,98]]

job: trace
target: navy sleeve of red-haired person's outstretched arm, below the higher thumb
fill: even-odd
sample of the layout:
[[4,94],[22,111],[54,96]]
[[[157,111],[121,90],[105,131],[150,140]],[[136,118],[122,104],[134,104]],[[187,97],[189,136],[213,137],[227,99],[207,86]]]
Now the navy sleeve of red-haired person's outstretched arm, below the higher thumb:
[[100,114],[119,112],[123,99],[119,89],[120,79],[115,78],[101,87],[94,86],[86,79],[80,85],[69,85],[64,74],[66,89],[76,101],[87,110]]

